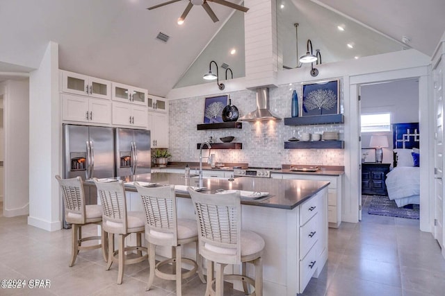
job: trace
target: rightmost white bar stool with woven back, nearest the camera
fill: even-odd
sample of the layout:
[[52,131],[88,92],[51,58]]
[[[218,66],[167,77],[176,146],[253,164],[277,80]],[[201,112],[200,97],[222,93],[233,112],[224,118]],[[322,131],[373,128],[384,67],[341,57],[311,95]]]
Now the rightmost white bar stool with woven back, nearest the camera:
[[[241,230],[240,192],[209,194],[189,188],[198,224],[200,254],[207,259],[207,295],[223,296],[224,279],[243,281],[245,294],[248,284],[254,286],[249,295],[263,295],[263,263],[261,254],[264,239],[258,234]],[[252,263],[255,279],[247,276],[247,263]],[[241,264],[242,275],[224,275],[227,264]],[[216,278],[213,279],[213,265]],[[213,290],[215,283],[215,290]]]

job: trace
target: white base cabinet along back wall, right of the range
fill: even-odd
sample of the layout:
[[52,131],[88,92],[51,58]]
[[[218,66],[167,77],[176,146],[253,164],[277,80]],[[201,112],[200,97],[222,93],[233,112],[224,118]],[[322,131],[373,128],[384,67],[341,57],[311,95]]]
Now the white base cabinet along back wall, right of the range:
[[320,180],[330,182],[327,186],[327,218],[329,226],[338,228],[341,223],[341,196],[343,195],[343,176],[342,175],[298,175],[298,174],[280,174],[273,173],[273,178],[296,179],[296,180]]

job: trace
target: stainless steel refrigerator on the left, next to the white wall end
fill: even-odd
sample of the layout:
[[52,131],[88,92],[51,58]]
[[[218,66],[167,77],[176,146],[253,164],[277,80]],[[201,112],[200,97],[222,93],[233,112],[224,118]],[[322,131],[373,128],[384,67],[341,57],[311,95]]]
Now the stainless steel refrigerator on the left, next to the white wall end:
[[[113,128],[63,125],[63,164],[65,178],[115,177]],[[96,187],[84,189],[86,204],[97,204]]]

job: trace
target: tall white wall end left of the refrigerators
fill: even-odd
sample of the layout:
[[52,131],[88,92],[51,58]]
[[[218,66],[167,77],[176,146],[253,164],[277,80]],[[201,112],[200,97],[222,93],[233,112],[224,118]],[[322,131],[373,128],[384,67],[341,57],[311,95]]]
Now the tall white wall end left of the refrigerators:
[[58,44],[49,42],[39,69],[32,71],[29,112],[28,224],[49,231],[61,228],[59,187],[61,171]]

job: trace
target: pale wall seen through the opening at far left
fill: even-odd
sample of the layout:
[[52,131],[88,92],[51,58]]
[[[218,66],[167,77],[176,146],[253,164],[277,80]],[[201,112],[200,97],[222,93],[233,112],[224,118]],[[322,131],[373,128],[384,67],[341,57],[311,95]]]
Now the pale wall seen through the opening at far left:
[[3,216],[29,213],[29,80],[8,80],[4,97]]

